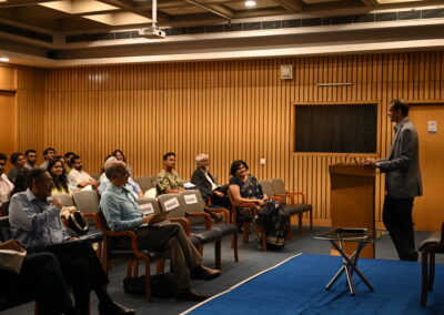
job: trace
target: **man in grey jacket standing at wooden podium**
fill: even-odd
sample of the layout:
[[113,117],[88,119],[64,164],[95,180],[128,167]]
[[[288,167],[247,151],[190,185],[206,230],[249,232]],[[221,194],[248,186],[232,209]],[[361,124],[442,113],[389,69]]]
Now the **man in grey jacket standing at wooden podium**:
[[383,221],[402,261],[417,261],[413,233],[413,200],[423,193],[417,132],[408,120],[408,104],[395,99],[389,115],[395,122],[395,135],[387,159],[366,159],[364,164],[379,167],[385,175]]

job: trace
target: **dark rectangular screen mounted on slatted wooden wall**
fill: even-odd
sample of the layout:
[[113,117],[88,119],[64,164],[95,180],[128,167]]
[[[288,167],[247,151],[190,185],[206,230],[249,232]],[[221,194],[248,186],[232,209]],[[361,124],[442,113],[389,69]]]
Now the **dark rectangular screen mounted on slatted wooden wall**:
[[296,105],[295,115],[295,152],[376,152],[376,104]]

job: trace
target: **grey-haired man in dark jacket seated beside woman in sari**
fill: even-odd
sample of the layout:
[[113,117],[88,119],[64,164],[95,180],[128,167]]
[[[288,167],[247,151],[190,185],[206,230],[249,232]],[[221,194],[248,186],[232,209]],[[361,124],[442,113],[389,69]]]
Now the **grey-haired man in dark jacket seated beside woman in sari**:
[[206,153],[201,153],[195,156],[198,167],[191,176],[193,183],[201,192],[202,199],[209,203],[221,206],[230,206],[230,201],[226,196],[228,186],[218,185],[214,177],[209,172],[210,156]]

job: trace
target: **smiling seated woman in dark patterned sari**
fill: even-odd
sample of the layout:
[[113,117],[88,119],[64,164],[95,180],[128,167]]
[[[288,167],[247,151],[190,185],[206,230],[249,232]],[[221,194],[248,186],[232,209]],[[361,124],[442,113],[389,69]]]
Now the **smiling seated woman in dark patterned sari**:
[[[256,177],[248,173],[249,165],[245,161],[238,160],[231,164],[230,192],[235,203],[255,203],[258,209],[264,207],[269,197],[263,193],[262,186]],[[287,228],[287,214],[279,204],[266,207],[266,216],[261,217],[261,224],[268,227],[266,243],[274,246],[282,246],[285,243]],[[252,222],[256,216],[256,211],[252,207],[236,207],[236,224],[241,228],[245,222]],[[265,219],[266,217],[266,219]],[[273,222],[273,224],[269,224]],[[272,227],[272,235],[270,228]]]

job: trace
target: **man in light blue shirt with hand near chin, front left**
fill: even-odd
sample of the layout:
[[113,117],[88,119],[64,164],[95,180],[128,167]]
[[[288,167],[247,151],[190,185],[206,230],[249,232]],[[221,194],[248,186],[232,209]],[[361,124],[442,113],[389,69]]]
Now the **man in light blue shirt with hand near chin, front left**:
[[108,277],[91,244],[73,240],[60,219],[61,204],[48,202],[52,191],[51,175],[33,169],[28,175],[28,190],[16,194],[10,204],[12,237],[20,241],[28,252],[48,251],[56,255],[67,282],[73,287],[75,309],[90,313],[90,289],[99,298],[100,314],[134,314],[117,303],[105,292]]

